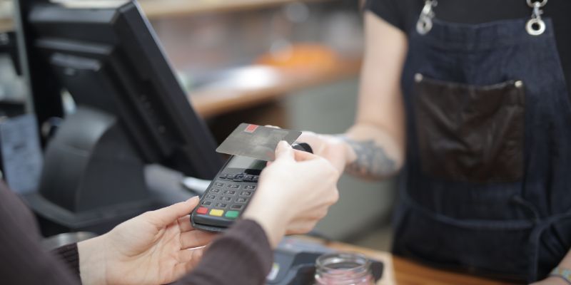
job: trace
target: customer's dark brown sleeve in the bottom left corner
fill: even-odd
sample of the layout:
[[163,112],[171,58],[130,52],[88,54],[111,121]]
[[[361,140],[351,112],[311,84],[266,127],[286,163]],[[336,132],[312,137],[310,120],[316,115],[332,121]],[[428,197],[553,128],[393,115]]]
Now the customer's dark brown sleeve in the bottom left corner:
[[33,215],[0,182],[1,284],[79,284],[57,257],[44,251]]

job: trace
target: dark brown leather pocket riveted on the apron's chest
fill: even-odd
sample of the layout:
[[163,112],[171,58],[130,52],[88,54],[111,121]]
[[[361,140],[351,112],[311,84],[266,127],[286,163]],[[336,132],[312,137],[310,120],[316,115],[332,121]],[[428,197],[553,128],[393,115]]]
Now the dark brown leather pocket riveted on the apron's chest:
[[521,81],[473,86],[415,78],[423,172],[460,182],[511,182],[523,173]]

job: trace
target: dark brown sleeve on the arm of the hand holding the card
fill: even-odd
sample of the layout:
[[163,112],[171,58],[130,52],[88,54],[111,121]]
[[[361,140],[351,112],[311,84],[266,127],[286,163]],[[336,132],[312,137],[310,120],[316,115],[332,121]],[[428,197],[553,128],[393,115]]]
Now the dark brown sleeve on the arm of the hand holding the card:
[[264,284],[272,260],[266,232],[252,220],[240,220],[216,239],[196,269],[176,284]]

